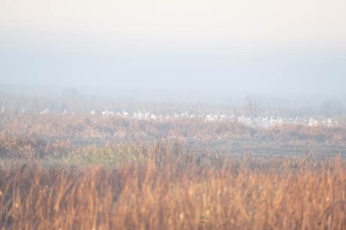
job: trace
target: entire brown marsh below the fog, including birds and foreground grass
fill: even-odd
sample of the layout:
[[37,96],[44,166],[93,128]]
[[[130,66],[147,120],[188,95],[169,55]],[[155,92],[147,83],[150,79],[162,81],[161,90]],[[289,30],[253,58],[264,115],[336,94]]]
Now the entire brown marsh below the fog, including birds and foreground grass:
[[0,98],[1,229],[346,229],[343,114]]

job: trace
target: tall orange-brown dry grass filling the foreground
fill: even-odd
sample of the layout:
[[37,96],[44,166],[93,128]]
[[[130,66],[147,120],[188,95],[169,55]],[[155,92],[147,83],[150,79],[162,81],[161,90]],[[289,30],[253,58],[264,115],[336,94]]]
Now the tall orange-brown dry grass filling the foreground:
[[211,164],[191,161],[187,153],[152,156],[122,166],[2,164],[1,227],[346,228],[346,164],[340,156],[245,156]]

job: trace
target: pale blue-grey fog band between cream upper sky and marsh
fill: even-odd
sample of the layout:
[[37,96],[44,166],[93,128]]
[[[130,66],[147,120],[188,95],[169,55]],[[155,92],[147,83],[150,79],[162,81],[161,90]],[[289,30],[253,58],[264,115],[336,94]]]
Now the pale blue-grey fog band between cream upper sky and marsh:
[[[161,98],[247,94],[273,97],[345,97],[342,53],[172,53],[122,50],[2,52],[1,89],[8,86],[89,95]],[[179,97],[179,95],[176,95]]]

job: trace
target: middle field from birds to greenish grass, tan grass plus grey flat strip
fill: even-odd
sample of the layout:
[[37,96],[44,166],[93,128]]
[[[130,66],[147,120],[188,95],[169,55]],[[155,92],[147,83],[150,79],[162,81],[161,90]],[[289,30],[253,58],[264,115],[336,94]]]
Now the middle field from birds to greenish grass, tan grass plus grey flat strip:
[[102,115],[0,114],[0,156],[59,159],[84,148],[179,144],[226,155],[346,155],[346,126],[282,124],[251,127],[199,118],[153,121]]

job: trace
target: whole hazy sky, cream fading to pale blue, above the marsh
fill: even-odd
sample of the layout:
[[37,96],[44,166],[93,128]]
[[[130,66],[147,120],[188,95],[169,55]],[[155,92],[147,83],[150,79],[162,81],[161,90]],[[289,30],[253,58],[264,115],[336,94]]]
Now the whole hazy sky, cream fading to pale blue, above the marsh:
[[345,96],[345,10],[345,0],[1,0],[0,86]]

